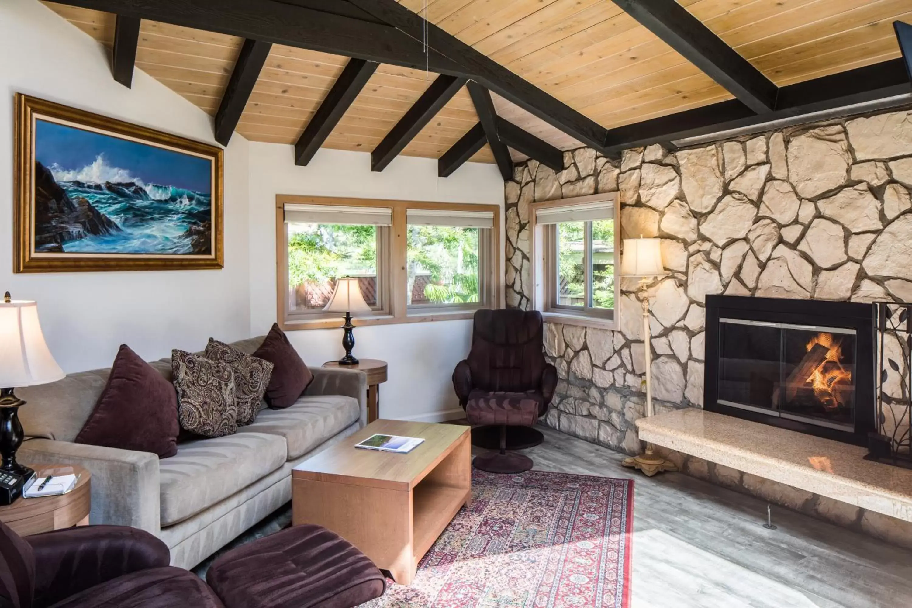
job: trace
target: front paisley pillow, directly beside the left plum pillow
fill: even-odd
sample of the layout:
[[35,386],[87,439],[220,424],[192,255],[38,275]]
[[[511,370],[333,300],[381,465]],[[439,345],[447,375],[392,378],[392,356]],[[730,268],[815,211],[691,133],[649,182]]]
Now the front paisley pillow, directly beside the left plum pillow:
[[171,370],[181,428],[202,437],[223,437],[237,430],[231,366],[175,349]]

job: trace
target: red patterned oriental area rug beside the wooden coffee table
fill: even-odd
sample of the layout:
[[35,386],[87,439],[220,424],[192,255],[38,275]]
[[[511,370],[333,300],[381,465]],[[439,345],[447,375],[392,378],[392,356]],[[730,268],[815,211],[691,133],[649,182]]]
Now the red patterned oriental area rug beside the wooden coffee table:
[[415,581],[365,606],[629,606],[632,479],[473,470],[472,490]]

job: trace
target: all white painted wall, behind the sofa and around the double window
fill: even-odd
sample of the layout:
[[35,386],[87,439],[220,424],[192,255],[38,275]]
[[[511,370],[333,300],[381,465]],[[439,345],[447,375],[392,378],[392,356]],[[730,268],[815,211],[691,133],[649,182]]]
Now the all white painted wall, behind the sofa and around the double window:
[[[131,89],[110,74],[109,53],[36,0],[0,2],[0,215],[13,216],[16,92],[212,143],[212,119],[137,70]],[[67,372],[109,366],[120,344],[147,359],[199,350],[209,336],[264,334],[275,322],[275,195],[310,194],[503,205],[494,165],[467,163],[450,178],[437,161],[399,157],[380,172],[370,155],[322,149],[295,167],[291,146],[247,142],[225,150],[221,271],[12,273],[11,221],[0,225],[0,292],[38,302],[48,345]],[[502,229],[503,232],[503,229]],[[503,237],[503,234],[502,234]],[[503,252],[501,252],[503,255]],[[458,413],[450,376],[468,353],[470,321],[356,330],[358,356],[389,362],[385,417]],[[341,330],[290,333],[308,365],[343,354]]]

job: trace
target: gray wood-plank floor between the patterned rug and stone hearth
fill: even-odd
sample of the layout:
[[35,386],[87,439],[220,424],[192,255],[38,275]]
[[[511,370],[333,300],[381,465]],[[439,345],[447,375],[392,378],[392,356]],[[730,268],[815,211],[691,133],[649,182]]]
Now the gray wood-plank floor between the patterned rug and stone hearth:
[[550,428],[535,469],[633,478],[633,608],[912,608],[912,551],[680,473],[649,479],[621,454]]

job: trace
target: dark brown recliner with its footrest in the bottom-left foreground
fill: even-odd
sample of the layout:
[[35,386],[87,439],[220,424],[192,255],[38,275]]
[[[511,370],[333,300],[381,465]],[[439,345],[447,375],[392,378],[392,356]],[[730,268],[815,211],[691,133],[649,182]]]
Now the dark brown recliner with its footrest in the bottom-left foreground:
[[136,528],[23,538],[0,522],[0,608],[351,608],[386,589],[367,556],[315,525],[227,551],[209,584],[170,561],[164,542]]

